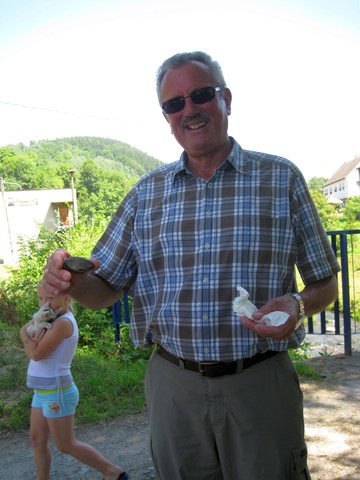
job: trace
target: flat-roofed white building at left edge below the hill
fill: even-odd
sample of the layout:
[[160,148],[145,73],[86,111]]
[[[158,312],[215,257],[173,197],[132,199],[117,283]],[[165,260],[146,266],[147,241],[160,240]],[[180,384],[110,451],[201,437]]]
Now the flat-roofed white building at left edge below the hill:
[[74,224],[75,189],[6,190],[0,180],[0,263],[18,261],[19,237],[36,238],[42,225],[55,231]]

